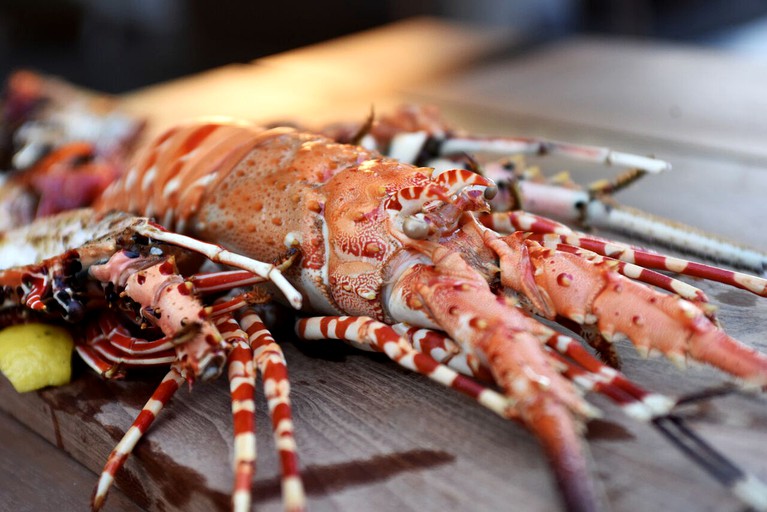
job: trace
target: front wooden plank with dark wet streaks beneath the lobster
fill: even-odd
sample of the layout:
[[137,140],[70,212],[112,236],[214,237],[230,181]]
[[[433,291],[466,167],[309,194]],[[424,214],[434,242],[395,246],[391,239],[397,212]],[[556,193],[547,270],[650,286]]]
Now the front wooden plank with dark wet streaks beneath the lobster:
[[[745,293],[718,292],[723,318],[736,335],[761,346],[752,328],[767,305]],[[758,323],[758,322],[757,322]],[[744,332],[745,331],[745,332]],[[545,461],[529,433],[380,357],[330,347],[297,350],[286,344],[294,390],[297,440],[314,510],[524,510],[558,507]],[[663,361],[638,360],[630,349],[626,371],[665,392],[688,392],[719,377],[704,368],[679,375]],[[0,407],[98,471],[119,434],[159,379],[103,382],[85,373],[72,385],[26,395],[0,384]],[[616,511],[711,510],[742,507],[692,467],[647,425],[621,417],[595,400],[606,418],[589,430],[594,478]],[[258,405],[267,424],[265,403]],[[54,414],[56,421],[51,420]],[[767,411],[760,400],[720,399],[693,410],[693,425],[743,467],[767,478]],[[224,510],[232,454],[231,421],[223,380],[182,391],[118,485],[149,510]],[[260,427],[258,510],[280,510],[273,444]],[[95,478],[94,478],[95,482]],[[110,498],[107,510],[115,506]]]

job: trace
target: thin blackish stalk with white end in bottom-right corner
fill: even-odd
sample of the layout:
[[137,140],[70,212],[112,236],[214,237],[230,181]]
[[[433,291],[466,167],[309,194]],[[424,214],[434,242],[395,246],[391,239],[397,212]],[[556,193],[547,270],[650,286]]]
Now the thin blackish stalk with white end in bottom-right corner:
[[725,486],[743,503],[767,511],[767,485],[733,464],[693,432],[679,416],[659,416],[653,425],[687,457]]

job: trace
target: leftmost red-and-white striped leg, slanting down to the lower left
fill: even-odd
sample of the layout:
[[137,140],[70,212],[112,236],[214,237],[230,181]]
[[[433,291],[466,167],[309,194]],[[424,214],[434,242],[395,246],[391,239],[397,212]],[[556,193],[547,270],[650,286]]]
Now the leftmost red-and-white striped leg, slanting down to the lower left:
[[109,454],[91,499],[91,508],[93,510],[99,510],[102,507],[117,471],[123,466],[136,443],[141,439],[141,436],[149,430],[152,422],[154,422],[162,408],[170,401],[184,381],[185,379],[179,370],[171,367],[168,374],[160,382],[160,385],[152,393],[152,397],[141,409],[141,412],[133,421],[133,425],[131,425],[114,450],[112,450],[112,453]]

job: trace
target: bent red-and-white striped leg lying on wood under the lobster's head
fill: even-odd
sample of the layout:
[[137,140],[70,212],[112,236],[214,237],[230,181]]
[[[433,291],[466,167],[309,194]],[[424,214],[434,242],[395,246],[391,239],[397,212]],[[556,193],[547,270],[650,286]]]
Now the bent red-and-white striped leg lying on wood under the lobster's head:
[[372,318],[365,316],[302,318],[296,323],[296,332],[301,339],[305,340],[337,339],[363,350],[383,352],[400,366],[469,396],[499,416],[504,418],[516,416],[513,404],[507,397],[415,350],[391,326]]

